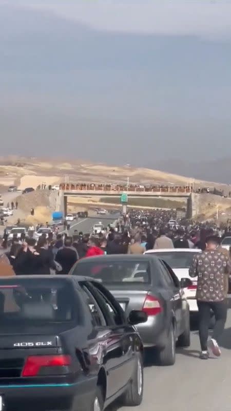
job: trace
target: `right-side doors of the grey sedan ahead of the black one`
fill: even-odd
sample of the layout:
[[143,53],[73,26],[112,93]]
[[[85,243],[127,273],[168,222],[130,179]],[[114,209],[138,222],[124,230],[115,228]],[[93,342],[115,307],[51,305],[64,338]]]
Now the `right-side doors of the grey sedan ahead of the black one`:
[[182,329],[182,322],[183,322],[183,305],[182,305],[182,298],[179,285],[174,282],[170,274],[170,270],[166,263],[160,260],[160,267],[161,272],[163,275],[163,280],[169,291],[169,297],[171,302],[171,309],[174,311],[175,319],[176,319],[176,337],[180,335]]

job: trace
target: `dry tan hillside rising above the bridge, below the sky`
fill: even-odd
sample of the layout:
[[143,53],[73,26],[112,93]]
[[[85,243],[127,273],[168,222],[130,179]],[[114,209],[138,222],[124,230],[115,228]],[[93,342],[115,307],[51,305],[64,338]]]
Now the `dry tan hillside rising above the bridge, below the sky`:
[[200,187],[215,187],[230,190],[229,186],[214,182],[194,180],[191,177],[182,177],[164,173],[158,170],[136,168],[130,165],[109,166],[106,164],[81,163],[80,161],[40,160],[36,158],[0,158],[0,185],[17,184],[20,189],[45,182],[46,184],[69,182],[100,182],[100,183],[131,183],[142,184],[181,184],[195,183]]

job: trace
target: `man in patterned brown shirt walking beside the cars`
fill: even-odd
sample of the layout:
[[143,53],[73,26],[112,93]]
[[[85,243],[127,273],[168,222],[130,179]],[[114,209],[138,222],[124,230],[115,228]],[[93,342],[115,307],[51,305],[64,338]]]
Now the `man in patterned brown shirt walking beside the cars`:
[[[222,334],[227,316],[226,280],[230,270],[229,258],[219,250],[219,237],[206,239],[206,249],[195,255],[189,269],[190,277],[198,276],[197,304],[202,360],[208,359],[208,348],[216,357],[221,355],[218,338]],[[208,341],[210,310],[215,314],[213,337]]]

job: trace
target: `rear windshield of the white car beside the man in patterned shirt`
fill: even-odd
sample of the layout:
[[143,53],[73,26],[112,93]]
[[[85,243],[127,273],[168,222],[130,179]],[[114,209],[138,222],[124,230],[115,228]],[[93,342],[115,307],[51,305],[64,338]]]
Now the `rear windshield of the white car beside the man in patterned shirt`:
[[171,268],[189,268],[195,254],[198,254],[198,252],[153,253],[156,257],[164,260]]

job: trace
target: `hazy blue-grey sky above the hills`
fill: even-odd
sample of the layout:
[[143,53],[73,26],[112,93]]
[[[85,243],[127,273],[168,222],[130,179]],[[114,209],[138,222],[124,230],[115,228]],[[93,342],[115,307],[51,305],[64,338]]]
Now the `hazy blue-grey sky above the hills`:
[[229,156],[231,0],[2,0],[0,35],[2,155]]

